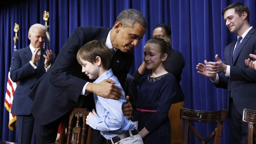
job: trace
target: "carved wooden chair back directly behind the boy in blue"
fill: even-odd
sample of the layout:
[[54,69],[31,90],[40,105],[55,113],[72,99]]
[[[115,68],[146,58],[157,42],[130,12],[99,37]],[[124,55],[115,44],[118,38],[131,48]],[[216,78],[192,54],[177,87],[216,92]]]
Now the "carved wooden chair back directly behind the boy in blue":
[[[74,108],[69,115],[69,126],[67,129],[67,144],[91,144],[93,129],[86,124],[86,116],[91,111],[86,108]],[[59,144],[65,144],[66,119],[61,122],[61,133]]]

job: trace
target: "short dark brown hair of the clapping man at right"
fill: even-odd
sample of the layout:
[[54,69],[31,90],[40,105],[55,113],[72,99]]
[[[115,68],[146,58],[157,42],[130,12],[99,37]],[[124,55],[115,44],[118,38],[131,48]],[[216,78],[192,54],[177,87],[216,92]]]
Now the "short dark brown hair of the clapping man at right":
[[229,9],[235,9],[235,12],[238,14],[239,17],[241,17],[243,12],[246,12],[247,13],[247,20],[248,20],[248,23],[249,23],[250,11],[249,11],[249,8],[245,4],[241,4],[240,2],[230,4],[222,10],[222,15],[224,15],[224,13]]

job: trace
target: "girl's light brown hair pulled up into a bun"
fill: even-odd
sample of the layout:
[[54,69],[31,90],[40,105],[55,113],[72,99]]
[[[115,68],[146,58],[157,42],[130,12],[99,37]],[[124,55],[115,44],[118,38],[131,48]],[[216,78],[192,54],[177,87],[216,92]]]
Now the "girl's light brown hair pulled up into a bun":
[[156,44],[156,45],[158,45],[161,55],[163,55],[165,53],[167,53],[167,54],[169,53],[170,39],[167,36],[161,36],[159,38],[149,39],[146,42],[146,45],[147,44]]

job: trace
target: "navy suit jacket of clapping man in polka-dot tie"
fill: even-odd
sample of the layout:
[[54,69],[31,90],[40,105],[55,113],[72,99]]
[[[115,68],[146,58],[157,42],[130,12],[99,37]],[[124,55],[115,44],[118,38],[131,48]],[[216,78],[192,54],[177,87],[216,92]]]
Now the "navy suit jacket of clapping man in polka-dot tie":
[[[252,28],[241,42],[232,63],[236,41],[231,42],[224,50],[223,63],[230,65],[230,78],[219,75],[218,88],[226,88],[227,96],[232,92],[233,102],[238,112],[243,115],[243,108],[256,110],[256,71],[244,64],[249,54],[256,54],[256,29]],[[228,98],[229,105],[229,98]]]

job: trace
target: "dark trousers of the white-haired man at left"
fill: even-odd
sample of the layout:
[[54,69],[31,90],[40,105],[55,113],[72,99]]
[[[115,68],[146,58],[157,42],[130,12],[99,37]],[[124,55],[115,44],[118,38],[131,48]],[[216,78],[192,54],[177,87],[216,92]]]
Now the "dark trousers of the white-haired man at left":
[[[34,132],[34,117],[30,115],[16,115],[16,131],[18,143],[31,144]],[[33,142],[32,142],[33,143]]]

